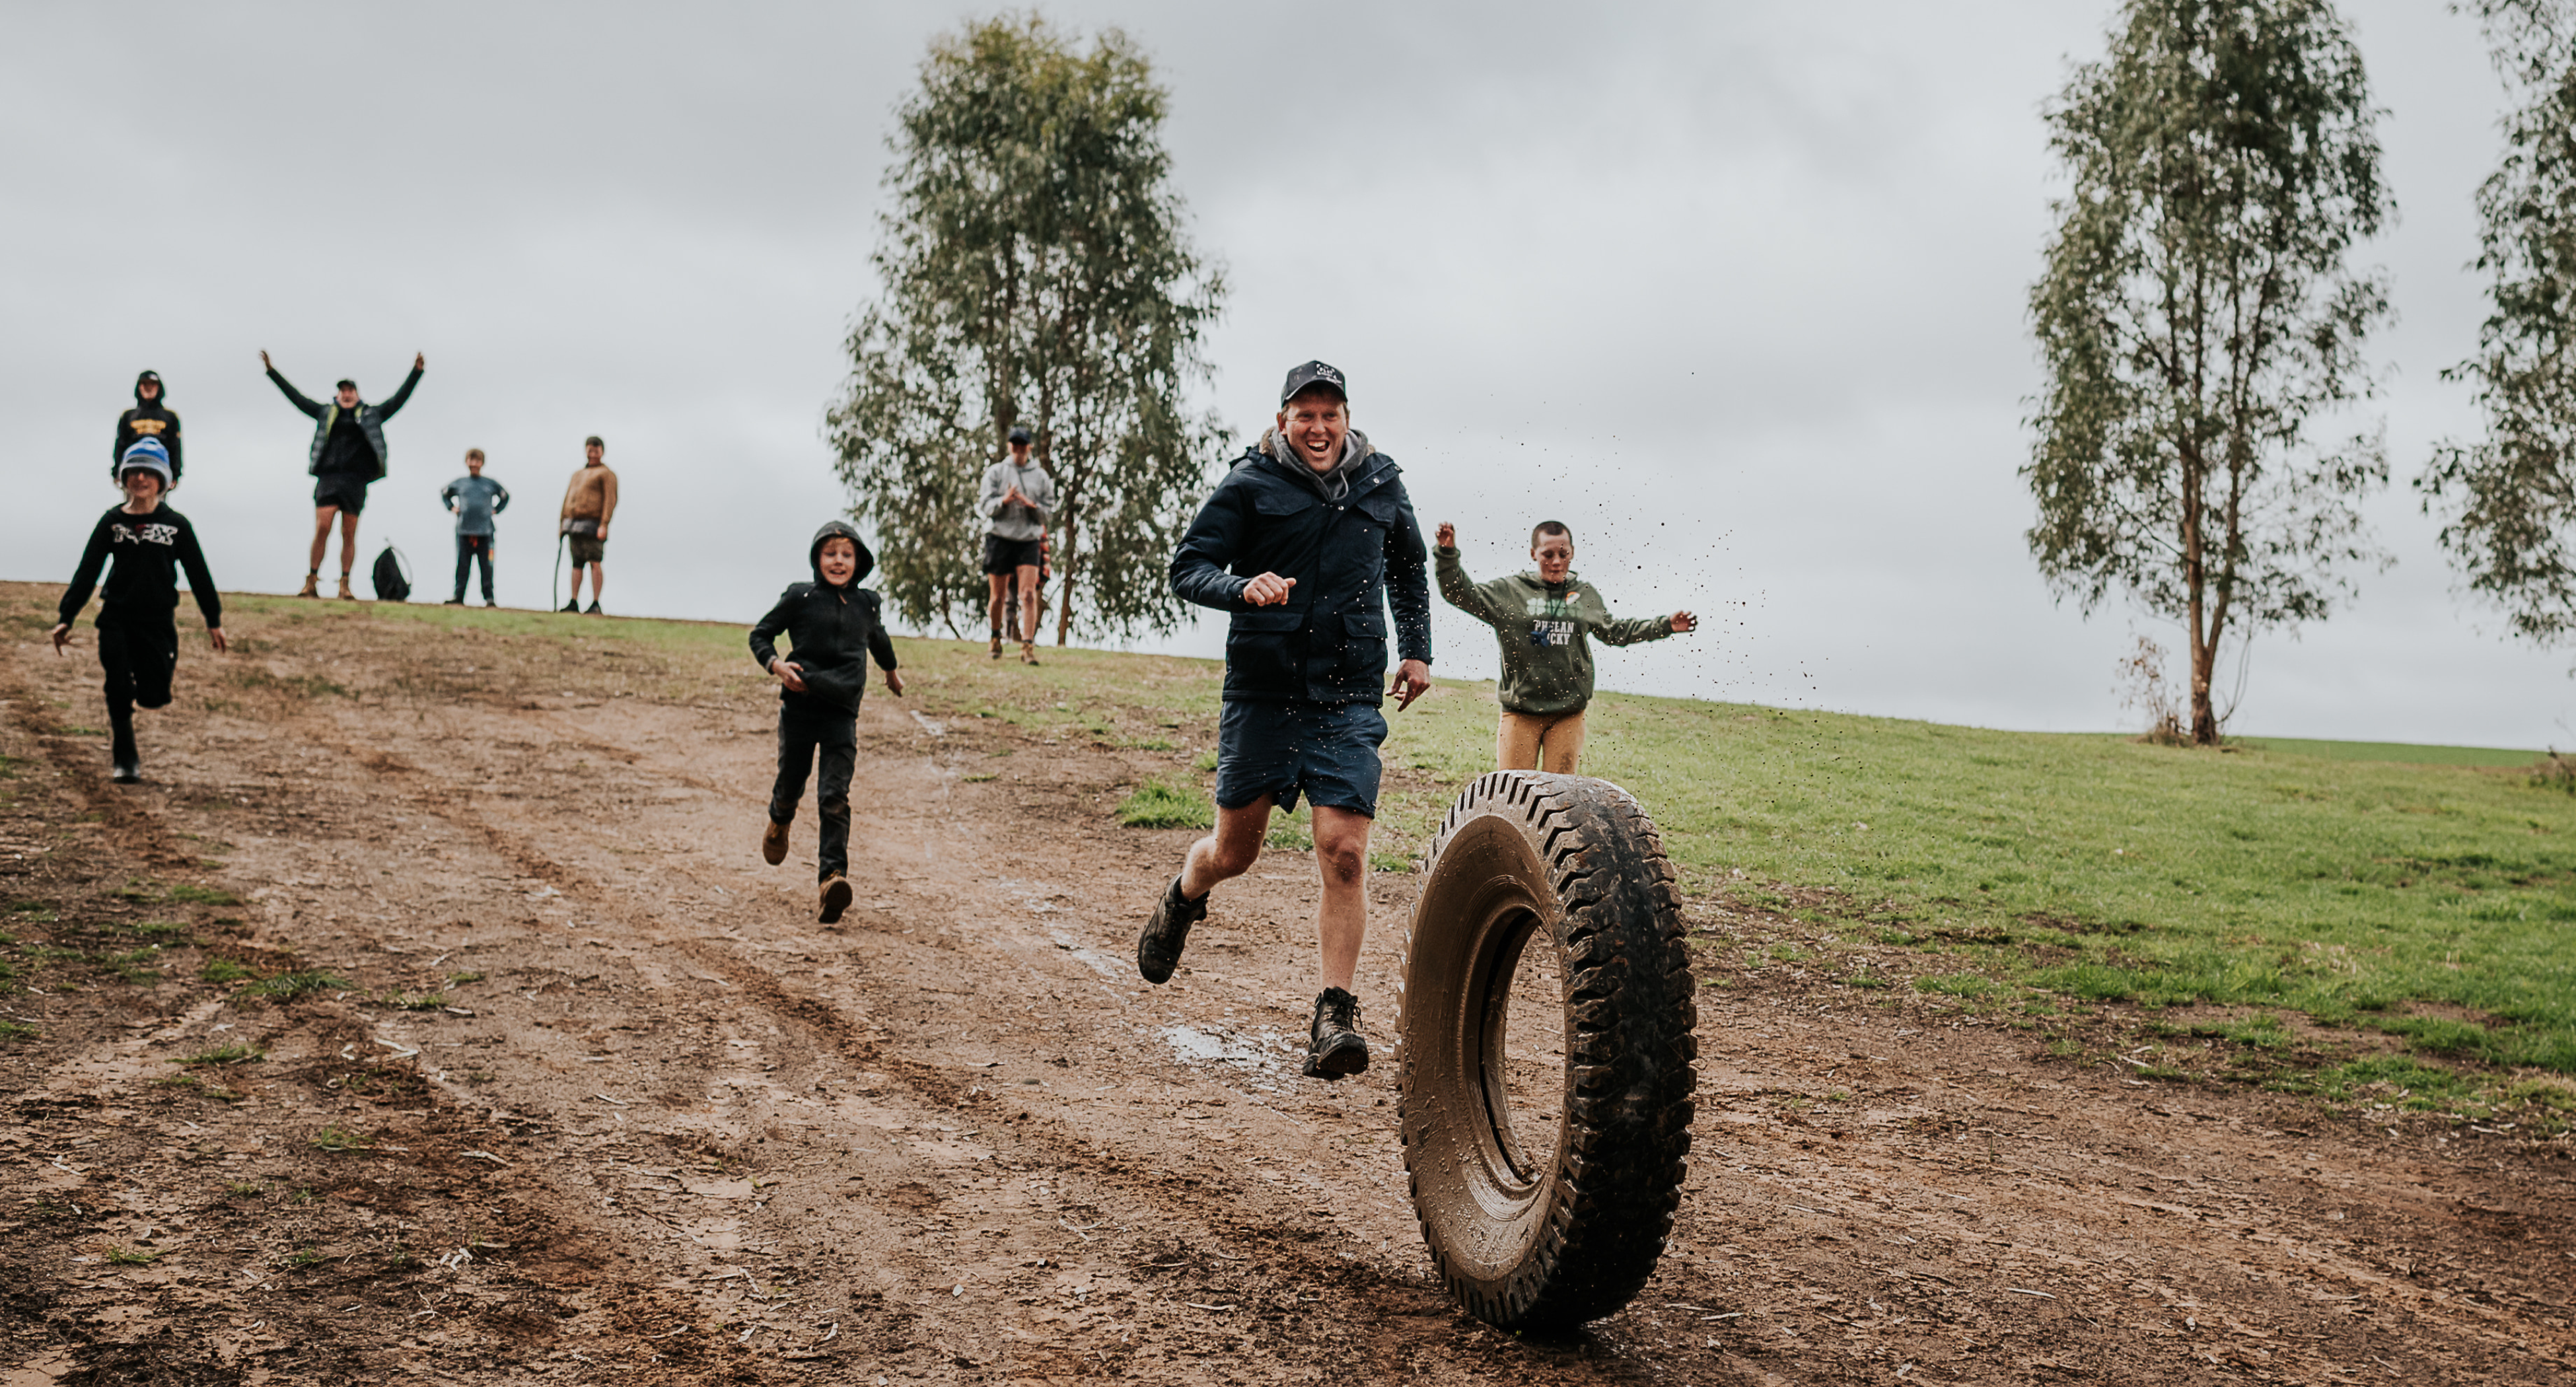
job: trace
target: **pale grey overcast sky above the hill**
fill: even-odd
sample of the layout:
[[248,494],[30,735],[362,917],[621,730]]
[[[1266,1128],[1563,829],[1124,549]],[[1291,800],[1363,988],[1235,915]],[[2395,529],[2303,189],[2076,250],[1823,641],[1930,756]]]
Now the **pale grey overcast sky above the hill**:
[[[286,593],[312,526],[307,392],[389,394],[361,575],[428,601],[466,446],[513,487],[502,601],[549,596],[554,503],[603,433],[608,606],[742,619],[842,505],[822,410],[873,281],[891,108],[969,5],[0,8],[0,577],[59,580],[137,369],[170,382],[173,498],[224,588]],[[2050,603],[2022,529],[2022,302],[2058,186],[2040,106],[2110,5],[1074,3],[1172,90],[1175,178],[1231,302],[1213,405],[1257,431],[1293,361],[1352,379],[1425,523],[1479,577],[1540,513],[1620,614],[1613,688],[2105,730],[2128,608]],[[2249,735],[2576,742],[2568,652],[2455,593],[2403,480],[2478,425],[2470,196],[2496,80],[2437,0],[2347,5],[2396,232],[2396,570],[2254,647]],[[335,541],[337,544],[337,541]],[[337,562],[337,557],[332,559]],[[327,580],[327,575],[325,575]],[[1437,673],[1489,675],[1445,606]],[[1216,652],[1221,619],[1170,647]],[[2177,668],[2179,675],[2179,668]]]

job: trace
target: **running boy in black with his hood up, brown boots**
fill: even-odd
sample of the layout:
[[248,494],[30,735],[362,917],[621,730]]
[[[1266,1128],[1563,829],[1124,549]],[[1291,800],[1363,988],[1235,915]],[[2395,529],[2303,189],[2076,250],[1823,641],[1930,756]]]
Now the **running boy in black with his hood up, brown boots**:
[[[788,822],[804,799],[806,773],[822,758],[822,786],[814,797],[822,820],[817,874],[822,877],[822,923],[837,923],[850,907],[850,771],[858,761],[858,699],[868,691],[868,657],[886,670],[886,691],[902,696],[904,675],[894,673],[894,639],[878,621],[876,593],[858,585],[876,567],[876,554],[848,521],[814,531],[806,552],[814,583],[778,593],[778,606],[752,626],[752,660],[778,675],[778,784],[770,789],[770,828],[760,835],[760,856],[778,866],[788,856]],[[770,645],[778,634],[788,655]]]

